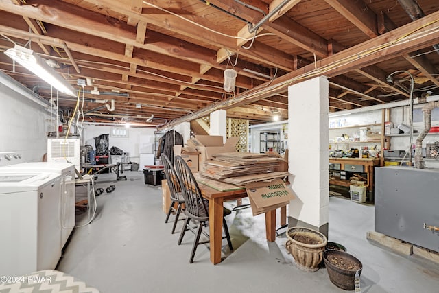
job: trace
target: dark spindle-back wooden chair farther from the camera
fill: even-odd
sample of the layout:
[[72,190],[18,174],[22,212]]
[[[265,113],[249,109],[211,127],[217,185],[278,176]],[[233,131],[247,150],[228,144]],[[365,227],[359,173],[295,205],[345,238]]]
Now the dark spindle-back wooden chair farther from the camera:
[[[171,213],[176,213],[176,218],[174,219],[174,225],[172,226],[172,234],[176,231],[177,222],[180,219],[180,213],[182,211],[182,206],[185,203],[185,198],[183,198],[182,191],[180,188],[180,183],[178,182],[178,178],[169,158],[165,155],[161,155],[163,166],[165,167],[165,176],[167,180],[167,185],[169,186],[169,191],[171,194],[171,205],[169,206],[169,210],[167,211],[165,223],[169,220],[169,216]],[[177,209],[175,209],[174,205],[177,204]]]

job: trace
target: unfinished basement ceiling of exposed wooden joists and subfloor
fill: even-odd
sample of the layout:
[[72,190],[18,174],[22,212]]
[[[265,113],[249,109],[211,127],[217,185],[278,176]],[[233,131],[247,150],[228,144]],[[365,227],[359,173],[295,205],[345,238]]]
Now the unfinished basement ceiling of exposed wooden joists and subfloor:
[[[437,0],[0,0],[0,47],[54,60],[75,89],[88,80],[86,121],[162,128],[222,108],[259,124],[287,119],[287,87],[319,75],[330,111],[409,99],[409,73],[415,97],[439,94],[438,10]],[[0,69],[50,99],[5,54]],[[225,69],[238,73],[230,93]],[[60,95],[64,115],[75,104]]]

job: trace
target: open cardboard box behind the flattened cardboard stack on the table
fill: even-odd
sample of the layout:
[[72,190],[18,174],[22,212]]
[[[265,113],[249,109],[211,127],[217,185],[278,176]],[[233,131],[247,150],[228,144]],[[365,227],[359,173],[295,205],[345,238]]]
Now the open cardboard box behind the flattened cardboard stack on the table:
[[235,145],[239,141],[239,137],[230,137],[226,140],[226,143],[222,141],[223,137],[221,135],[197,135],[195,138],[188,139],[187,145],[200,152],[198,163],[201,164],[212,159],[212,154],[236,152]]

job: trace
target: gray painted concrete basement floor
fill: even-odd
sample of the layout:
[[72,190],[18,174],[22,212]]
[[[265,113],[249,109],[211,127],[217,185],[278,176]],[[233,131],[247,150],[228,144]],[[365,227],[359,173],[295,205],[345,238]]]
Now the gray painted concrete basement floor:
[[[285,234],[267,242],[263,215],[253,217],[250,209],[227,217],[235,249],[230,252],[224,240],[222,263],[213,266],[209,246],[202,245],[189,264],[193,234],[177,245],[178,233],[171,235],[172,224],[164,222],[161,187],[145,185],[142,172],[126,175],[127,181],[115,181],[115,174],[99,175],[96,187],[116,189],[97,197],[95,220],[75,228],[57,270],[102,293],[344,292],[331,283],[326,269],[296,268],[285,249]],[[329,200],[329,241],[344,245],[363,264],[361,292],[438,292],[436,263],[368,242],[373,218],[372,205]],[[84,220],[78,215],[77,224]],[[179,222],[178,231],[181,226]]]

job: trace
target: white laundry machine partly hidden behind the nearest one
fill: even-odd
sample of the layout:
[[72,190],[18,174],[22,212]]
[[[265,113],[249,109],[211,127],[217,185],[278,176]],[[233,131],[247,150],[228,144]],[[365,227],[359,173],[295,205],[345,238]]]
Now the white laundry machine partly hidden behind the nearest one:
[[61,174],[60,216],[61,249],[69,239],[75,226],[75,165],[62,162],[18,163],[0,168],[3,172],[50,172]]

